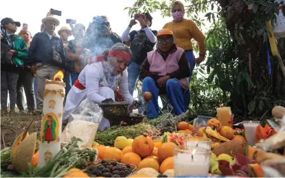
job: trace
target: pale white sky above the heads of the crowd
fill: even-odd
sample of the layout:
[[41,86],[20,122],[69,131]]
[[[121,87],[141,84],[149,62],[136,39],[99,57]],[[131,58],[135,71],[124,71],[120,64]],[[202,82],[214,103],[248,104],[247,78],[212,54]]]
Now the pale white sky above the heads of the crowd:
[[[41,30],[41,20],[45,18],[50,8],[62,12],[62,16],[56,16],[60,21],[56,33],[62,26],[69,27],[65,23],[67,18],[75,19],[77,23],[82,23],[87,28],[89,23],[92,22],[93,16],[105,15],[109,18],[112,30],[122,36],[130,22],[128,10],[124,10],[124,8],[130,7],[134,2],[135,0],[27,0],[23,3],[23,1],[14,0],[13,4],[17,5],[13,5],[12,11],[10,8],[1,8],[0,18],[10,17],[14,21],[19,21],[21,27],[18,28],[17,32],[21,31],[23,23],[27,23],[28,30],[34,35]],[[152,13],[152,17],[151,29],[159,30],[164,24],[172,21],[170,17],[163,18],[160,12]],[[138,24],[133,26],[133,29],[139,28]]]

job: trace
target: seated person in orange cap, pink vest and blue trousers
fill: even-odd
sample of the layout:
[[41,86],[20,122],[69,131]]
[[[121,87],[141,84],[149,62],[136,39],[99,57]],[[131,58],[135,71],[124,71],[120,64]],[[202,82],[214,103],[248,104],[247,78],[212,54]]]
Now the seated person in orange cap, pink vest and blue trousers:
[[[185,112],[189,105],[190,68],[185,51],[174,44],[173,32],[161,29],[157,34],[157,49],[150,51],[141,65],[143,92],[152,94],[148,103],[147,118],[159,116],[159,94],[166,94],[174,107],[175,115]],[[188,96],[188,97],[187,97]]]

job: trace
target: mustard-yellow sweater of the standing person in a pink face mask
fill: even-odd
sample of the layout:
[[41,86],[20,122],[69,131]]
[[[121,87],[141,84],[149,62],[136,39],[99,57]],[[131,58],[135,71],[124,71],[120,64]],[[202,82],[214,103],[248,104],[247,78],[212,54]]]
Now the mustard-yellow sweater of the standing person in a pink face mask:
[[192,38],[198,42],[199,54],[205,55],[206,49],[204,45],[205,36],[196,23],[191,20],[184,19],[180,22],[170,22],[163,26],[163,29],[171,29],[174,34],[174,42],[177,47],[181,47],[185,51],[193,50]]

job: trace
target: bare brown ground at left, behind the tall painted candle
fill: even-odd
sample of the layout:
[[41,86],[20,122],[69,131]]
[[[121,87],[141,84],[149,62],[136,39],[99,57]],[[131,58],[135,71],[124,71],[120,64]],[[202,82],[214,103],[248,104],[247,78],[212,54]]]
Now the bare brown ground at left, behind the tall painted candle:
[[[34,116],[1,116],[1,149],[11,147],[14,140],[30,124]],[[38,136],[41,131],[41,117],[38,116],[32,123],[29,133],[37,132]]]

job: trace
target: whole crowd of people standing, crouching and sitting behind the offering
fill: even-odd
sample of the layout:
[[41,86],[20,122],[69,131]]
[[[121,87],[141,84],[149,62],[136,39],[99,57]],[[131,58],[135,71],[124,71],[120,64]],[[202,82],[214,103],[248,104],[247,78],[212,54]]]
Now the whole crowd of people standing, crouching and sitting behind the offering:
[[[15,34],[21,23],[3,18],[1,114],[42,114],[45,80],[53,79],[59,70],[64,71],[66,84],[64,120],[84,99],[141,105],[133,99],[138,81],[142,92],[152,94],[144,111],[148,118],[159,116],[159,96],[170,100],[173,114],[185,112],[192,71],[205,59],[205,36],[193,21],[184,18],[181,2],[176,1],[171,10],[173,21],[159,30],[150,29],[152,16],[148,12],[135,14],[122,38],[111,30],[106,16],[95,16],[87,29],[82,24],[69,24],[56,33],[60,21],[48,13],[34,36],[24,28]],[[137,23],[141,29],[131,31]],[[70,36],[74,39],[69,40]],[[192,38],[198,43],[198,58],[194,58]],[[102,120],[100,129],[108,127],[109,121]]]

